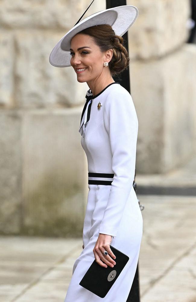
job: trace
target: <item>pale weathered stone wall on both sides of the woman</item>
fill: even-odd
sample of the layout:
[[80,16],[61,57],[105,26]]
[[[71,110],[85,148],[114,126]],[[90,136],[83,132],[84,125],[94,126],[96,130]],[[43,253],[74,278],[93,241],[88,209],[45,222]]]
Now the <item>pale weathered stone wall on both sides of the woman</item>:
[[[165,172],[195,148],[196,49],[186,44],[188,0],[131,0],[131,95],[137,172]],[[87,0],[2,0],[0,6],[0,233],[81,236],[88,193],[78,132],[86,83],[49,54]],[[94,1],[85,16],[106,8]]]

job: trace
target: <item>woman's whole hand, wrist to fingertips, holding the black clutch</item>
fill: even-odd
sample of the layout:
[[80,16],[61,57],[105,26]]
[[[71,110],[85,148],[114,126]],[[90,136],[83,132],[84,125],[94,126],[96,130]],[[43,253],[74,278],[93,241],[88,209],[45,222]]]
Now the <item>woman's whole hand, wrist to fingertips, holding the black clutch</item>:
[[[111,235],[106,234],[99,234],[99,237],[96,241],[95,247],[93,249],[93,253],[95,255],[96,262],[103,267],[107,267],[109,265],[110,267],[114,267],[116,262],[112,258],[116,258],[115,255],[112,253],[112,250],[110,249],[110,243],[112,241]],[[108,255],[103,255],[103,252],[107,251]],[[112,258],[111,258],[111,257]]]

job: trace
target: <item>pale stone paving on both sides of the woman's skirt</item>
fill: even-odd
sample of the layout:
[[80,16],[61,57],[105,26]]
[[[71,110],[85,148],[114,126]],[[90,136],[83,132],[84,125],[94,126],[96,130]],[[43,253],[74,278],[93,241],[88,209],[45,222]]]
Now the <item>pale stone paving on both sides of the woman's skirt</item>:
[[[196,302],[196,197],[137,196],[141,302]],[[82,238],[0,237],[0,301],[63,302],[81,251]]]

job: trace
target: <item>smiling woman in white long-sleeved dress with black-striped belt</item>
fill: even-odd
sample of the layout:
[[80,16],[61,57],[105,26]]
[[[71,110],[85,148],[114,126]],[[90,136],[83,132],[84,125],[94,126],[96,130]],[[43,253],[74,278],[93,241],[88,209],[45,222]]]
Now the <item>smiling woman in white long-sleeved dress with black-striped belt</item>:
[[[129,7],[113,9],[118,13],[122,12],[122,8],[129,12]],[[132,13],[133,8],[130,10]],[[102,12],[108,13],[110,10]],[[134,11],[137,13],[136,8]],[[102,12],[97,13],[99,17]],[[137,18],[135,16],[132,14],[129,17],[126,26],[131,26]],[[109,14],[105,14],[107,21],[108,17]],[[119,14],[115,18],[120,26],[122,16]],[[74,262],[65,302],[125,302],[137,268],[143,228],[141,210],[133,188],[138,119],[131,95],[112,78],[129,64],[123,38],[115,34],[114,24],[111,26],[113,21],[109,21],[111,24],[99,24],[97,19],[97,24],[88,27],[88,20],[86,28],[77,30],[69,38],[70,62],[65,57],[63,62],[62,56],[50,57],[53,66],[71,65],[77,81],[87,82],[90,88],[79,129],[81,145],[87,155],[89,188],[83,251]],[[64,42],[62,39],[61,50],[67,51],[65,43],[66,39]],[[54,62],[56,57],[58,60]],[[94,259],[102,267],[115,267],[115,255],[110,244],[128,255],[129,261],[106,296],[100,298],[79,283]]]

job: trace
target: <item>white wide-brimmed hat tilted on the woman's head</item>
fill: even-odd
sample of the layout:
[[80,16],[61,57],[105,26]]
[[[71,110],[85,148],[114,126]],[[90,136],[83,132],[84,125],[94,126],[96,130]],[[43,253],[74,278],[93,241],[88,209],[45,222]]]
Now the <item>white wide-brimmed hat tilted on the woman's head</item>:
[[53,48],[49,62],[55,67],[69,67],[71,39],[83,29],[91,26],[109,24],[115,34],[122,36],[138,17],[138,8],[133,5],[122,5],[98,11],[83,19],[68,31]]

